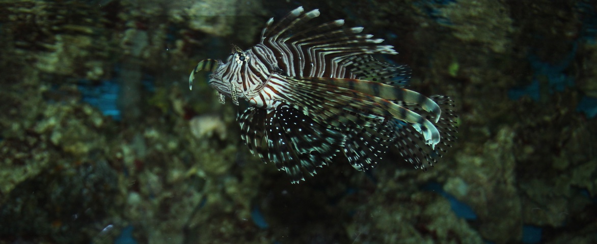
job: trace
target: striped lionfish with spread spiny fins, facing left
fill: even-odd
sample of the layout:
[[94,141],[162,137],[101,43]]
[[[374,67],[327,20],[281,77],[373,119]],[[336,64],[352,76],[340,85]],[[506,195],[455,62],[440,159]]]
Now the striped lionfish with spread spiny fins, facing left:
[[211,71],[208,83],[224,104],[248,101],[238,115],[241,138],[253,155],[284,170],[292,183],[317,167],[345,157],[368,170],[396,146],[416,168],[436,162],[456,137],[453,101],[405,89],[410,69],[376,60],[397,54],[383,39],[345,28],[344,20],[306,24],[319,10],[270,18],[261,41],[226,62],[203,60],[189,77]]

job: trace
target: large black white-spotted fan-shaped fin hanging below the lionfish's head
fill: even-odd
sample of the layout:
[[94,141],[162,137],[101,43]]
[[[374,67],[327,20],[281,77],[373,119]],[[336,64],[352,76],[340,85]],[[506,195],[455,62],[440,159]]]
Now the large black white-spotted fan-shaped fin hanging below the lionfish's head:
[[301,168],[315,174],[316,167],[331,162],[344,145],[343,134],[288,105],[274,110],[248,108],[239,116],[239,123],[241,137],[251,152],[284,170],[292,183],[304,180]]

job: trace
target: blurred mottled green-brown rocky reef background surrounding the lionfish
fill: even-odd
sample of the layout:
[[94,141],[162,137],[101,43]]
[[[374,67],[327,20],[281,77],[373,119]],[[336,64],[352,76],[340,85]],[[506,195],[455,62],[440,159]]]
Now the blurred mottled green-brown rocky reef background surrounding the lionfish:
[[[188,89],[298,6],[455,100],[433,168],[291,184]],[[597,243],[596,38],[589,0],[0,0],[0,243]]]

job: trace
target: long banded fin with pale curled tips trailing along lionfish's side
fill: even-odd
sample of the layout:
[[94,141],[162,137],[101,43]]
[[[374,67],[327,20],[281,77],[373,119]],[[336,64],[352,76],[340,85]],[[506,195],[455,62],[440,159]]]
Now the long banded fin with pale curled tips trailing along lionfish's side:
[[[292,96],[291,99],[300,104],[298,107],[318,111],[312,113],[314,117],[322,117],[322,120],[334,126],[362,123],[355,120],[351,113],[374,118],[391,116],[408,123],[417,132],[423,134],[425,143],[432,148],[441,139],[438,129],[432,123],[432,121],[439,121],[441,109],[435,101],[420,93],[367,80],[300,77],[288,79],[288,82],[295,84],[293,87],[296,92],[288,96]],[[321,102],[314,106],[313,100]],[[396,100],[418,104],[427,114],[423,117],[420,113],[393,102]],[[338,108],[349,113],[338,111]],[[330,111],[334,111],[335,115]]]

